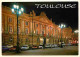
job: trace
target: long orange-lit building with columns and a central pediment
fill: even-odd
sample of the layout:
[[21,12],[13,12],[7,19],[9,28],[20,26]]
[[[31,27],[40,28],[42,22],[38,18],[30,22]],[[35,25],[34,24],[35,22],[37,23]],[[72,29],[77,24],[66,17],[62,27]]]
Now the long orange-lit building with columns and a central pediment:
[[[30,14],[23,13],[18,18],[18,25],[20,46],[39,46],[59,44],[61,42],[61,28],[53,23],[44,12],[41,12],[39,16],[36,16],[34,11],[30,12]],[[65,28],[62,32],[63,42],[68,43],[71,39],[72,29]],[[2,6],[2,45],[16,46],[16,43],[17,17],[12,14],[9,7]]]

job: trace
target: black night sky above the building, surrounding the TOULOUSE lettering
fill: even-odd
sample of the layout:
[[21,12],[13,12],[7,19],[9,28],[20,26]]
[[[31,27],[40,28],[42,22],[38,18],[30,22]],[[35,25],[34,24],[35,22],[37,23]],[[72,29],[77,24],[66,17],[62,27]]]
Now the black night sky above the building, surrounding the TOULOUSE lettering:
[[[10,8],[13,4],[14,2],[2,2],[2,5]],[[36,15],[40,15],[43,11],[55,24],[65,23],[73,30],[78,29],[78,2],[18,2],[18,4],[24,7],[25,13],[29,14],[34,10]],[[35,4],[76,4],[76,8],[37,8]]]

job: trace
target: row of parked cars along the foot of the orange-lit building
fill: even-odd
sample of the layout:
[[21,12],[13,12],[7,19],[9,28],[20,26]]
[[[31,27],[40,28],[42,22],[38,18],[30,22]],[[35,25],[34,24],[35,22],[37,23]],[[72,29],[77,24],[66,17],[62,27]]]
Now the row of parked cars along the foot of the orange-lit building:
[[[62,44],[63,46],[65,46],[65,44]],[[70,45],[70,44],[68,44]],[[2,46],[2,52],[5,51],[15,51],[17,46],[13,46],[13,45],[7,45],[7,46]],[[43,48],[56,48],[59,47],[59,45],[57,44],[47,44],[45,45],[45,47],[43,45],[33,45],[32,47],[30,47],[29,45],[23,45],[20,47],[20,50],[28,50],[28,49],[43,49]]]

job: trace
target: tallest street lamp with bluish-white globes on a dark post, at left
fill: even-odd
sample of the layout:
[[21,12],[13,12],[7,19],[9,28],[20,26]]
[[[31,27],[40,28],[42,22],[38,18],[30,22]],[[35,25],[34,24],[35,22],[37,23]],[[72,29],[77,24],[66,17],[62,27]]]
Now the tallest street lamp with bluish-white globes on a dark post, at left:
[[19,7],[19,5],[13,5],[13,8],[11,9],[13,14],[16,14],[17,16],[17,47],[16,47],[16,52],[20,52],[20,47],[19,47],[19,36],[18,36],[18,17],[23,13],[24,9]]

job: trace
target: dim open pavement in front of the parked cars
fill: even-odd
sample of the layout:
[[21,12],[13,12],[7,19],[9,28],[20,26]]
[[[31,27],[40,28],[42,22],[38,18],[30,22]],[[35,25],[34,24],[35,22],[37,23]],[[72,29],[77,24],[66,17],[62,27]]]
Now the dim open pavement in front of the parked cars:
[[21,53],[5,52],[5,55],[78,55],[78,46],[67,46],[63,48],[45,48],[21,51]]

